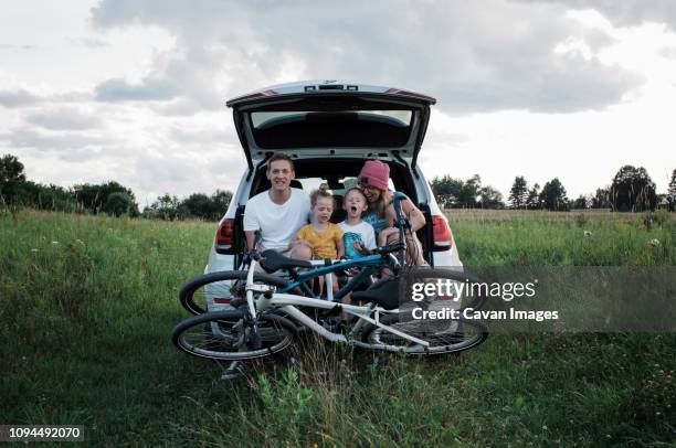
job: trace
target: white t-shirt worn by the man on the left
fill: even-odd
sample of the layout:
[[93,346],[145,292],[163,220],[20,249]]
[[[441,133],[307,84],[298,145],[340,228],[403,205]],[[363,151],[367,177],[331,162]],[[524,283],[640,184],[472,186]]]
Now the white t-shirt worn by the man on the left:
[[300,189],[292,189],[291,198],[282,205],[275,204],[266,190],[246,202],[244,231],[261,231],[261,249],[285,248],[307,224],[309,210],[309,195]]

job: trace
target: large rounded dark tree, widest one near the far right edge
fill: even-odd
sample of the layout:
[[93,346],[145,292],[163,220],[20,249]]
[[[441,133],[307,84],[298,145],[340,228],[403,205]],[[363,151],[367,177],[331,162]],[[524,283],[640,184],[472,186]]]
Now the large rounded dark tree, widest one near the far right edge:
[[655,183],[643,167],[624,166],[613,178],[611,185],[613,210],[642,212],[655,210],[657,195]]

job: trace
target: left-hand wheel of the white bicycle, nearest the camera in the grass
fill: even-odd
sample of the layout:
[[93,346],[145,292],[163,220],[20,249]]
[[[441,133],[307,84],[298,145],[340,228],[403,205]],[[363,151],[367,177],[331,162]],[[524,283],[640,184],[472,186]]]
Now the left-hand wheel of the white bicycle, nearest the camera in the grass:
[[236,309],[192,316],[173,329],[171,341],[190,355],[226,361],[267,356],[293,342],[296,328],[287,319],[260,316],[258,337],[254,338],[244,316]]

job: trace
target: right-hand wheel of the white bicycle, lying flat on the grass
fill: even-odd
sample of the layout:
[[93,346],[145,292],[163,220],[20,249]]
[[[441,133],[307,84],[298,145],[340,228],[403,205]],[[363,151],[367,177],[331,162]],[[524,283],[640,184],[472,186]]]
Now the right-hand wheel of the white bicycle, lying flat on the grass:
[[380,319],[380,322],[430,343],[429,346],[424,346],[376,326],[367,330],[365,342],[376,345],[374,349],[406,354],[457,353],[475,348],[488,338],[488,327],[480,320],[474,319],[402,321],[400,314],[389,314]]

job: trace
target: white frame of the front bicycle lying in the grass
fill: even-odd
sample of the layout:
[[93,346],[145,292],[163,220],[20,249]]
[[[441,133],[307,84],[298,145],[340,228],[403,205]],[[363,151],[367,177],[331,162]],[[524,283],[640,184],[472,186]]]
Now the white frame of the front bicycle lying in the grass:
[[[324,264],[324,262],[319,262]],[[380,322],[381,313],[394,313],[399,312],[399,310],[385,310],[384,308],[373,306],[372,303],[368,303],[366,306],[355,306],[347,303],[339,303],[342,311],[348,314],[357,317],[359,320],[346,338],[346,335],[340,333],[334,333],[323,326],[317,323],[313,318],[305,314],[296,307],[308,307],[308,308],[319,308],[319,309],[334,309],[338,303],[332,301],[332,290],[331,290],[331,276],[327,279],[327,292],[329,294],[329,300],[320,300],[315,298],[308,298],[304,296],[296,296],[293,294],[282,294],[274,292],[275,288],[268,285],[256,285],[254,284],[254,270],[256,267],[256,260],[251,262],[251,266],[249,267],[249,274],[246,276],[246,303],[249,307],[249,312],[251,316],[256,316],[256,311],[265,311],[268,309],[281,309],[286,314],[288,314],[293,320],[303,323],[314,332],[320,334],[323,338],[328,339],[331,342],[345,342],[353,345],[367,348],[367,349],[378,349],[378,350],[387,350],[387,351],[401,351],[401,346],[387,345],[387,344],[372,344],[367,343],[353,338],[358,335],[366,323],[372,323],[376,327],[379,327],[392,334],[397,334],[400,338],[406,339],[411,342],[420,344],[422,346],[430,346],[427,341],[423,341],[410,334],[406,334],[402,331],[399,331],[390,326],[385,326]],[[260,292],[257,299],[254,299],[254,292]],[[270,297],[265,297],[265,296]],[[376,318],[371,318],[371,312],[374,312]],[[410,348],[411,350],[415,349],[415,346]]]

